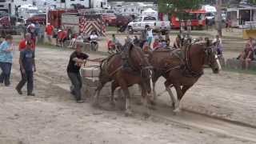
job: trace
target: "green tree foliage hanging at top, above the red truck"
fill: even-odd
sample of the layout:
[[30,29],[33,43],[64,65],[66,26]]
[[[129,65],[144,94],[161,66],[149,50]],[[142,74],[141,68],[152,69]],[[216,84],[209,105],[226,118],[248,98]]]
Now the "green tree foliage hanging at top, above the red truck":
[[183,19],[186,10],[197,10],[203,3],[204,0],[158,0],[158,10]]

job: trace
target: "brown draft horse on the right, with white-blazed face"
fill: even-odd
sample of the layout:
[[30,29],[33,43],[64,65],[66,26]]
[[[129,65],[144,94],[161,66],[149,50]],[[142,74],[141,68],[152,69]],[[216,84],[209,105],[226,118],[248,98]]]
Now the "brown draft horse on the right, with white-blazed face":
[[[221,70],[216,51],[210,46],[210,42],[186,46],[180,54],[162,48],[150,53],[150,63],[154,67],[152,75],[154,99],[157,97],[155,84],[158,78],[163,76],[166,78],[166,91],[170,94],[174,112],[179,111],[179,102],[186,91],[202,76],[205,65],[210,66],[214,74],[218,74]],[[171,92],[172,86],[178,98],[175,98]]]

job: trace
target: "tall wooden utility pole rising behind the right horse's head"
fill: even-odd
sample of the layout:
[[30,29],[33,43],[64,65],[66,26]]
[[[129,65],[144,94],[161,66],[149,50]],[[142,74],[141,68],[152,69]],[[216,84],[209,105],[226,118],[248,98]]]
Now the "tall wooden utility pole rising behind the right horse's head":
[[217,18],[215,20],[218,35],[222,37],[222,0],[216,0]]

